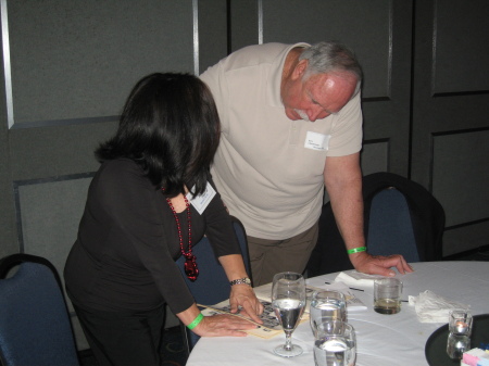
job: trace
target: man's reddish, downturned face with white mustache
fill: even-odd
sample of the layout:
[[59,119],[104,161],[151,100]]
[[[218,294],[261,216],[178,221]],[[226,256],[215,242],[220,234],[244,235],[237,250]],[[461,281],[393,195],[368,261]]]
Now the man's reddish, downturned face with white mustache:
[[356,88],[350,74],[316,74],[305,81],[300,75],[285,80],[281,90],[286,115],[292,121],[314,122],[338,113]]

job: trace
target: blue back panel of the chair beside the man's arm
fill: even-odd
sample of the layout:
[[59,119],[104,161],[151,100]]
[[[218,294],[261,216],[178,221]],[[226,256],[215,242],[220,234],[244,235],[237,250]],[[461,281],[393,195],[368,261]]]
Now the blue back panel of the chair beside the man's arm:
[[408,262],[419,262],[408,202],[393,187],[372,200],[367,248],[372,255],[402,254]]

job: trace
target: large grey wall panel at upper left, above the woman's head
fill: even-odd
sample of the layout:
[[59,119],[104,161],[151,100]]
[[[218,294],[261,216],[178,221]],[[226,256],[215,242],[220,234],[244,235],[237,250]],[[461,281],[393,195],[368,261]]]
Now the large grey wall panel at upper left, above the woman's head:
[[118,115],[143,75],[193,68],[189,1],[7,4],[15,124]]

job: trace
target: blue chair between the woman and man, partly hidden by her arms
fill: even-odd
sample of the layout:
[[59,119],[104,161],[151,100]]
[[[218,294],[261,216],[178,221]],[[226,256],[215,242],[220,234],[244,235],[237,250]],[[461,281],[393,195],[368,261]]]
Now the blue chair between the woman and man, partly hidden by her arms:
[[[244,261],[247,273],[249,274],[249,276],[251,276],[250,258],[248,255],[248,240],[244,227],[236,217],[231,216],[231,220],[239,245],[241,248],[241,254]],[[176,263],[196,302],[202,305],[213,305],[229,299],[229,281],[226,277],[224,268],[214,256],[214,252],[209,239],[206,237],[203,237],[199,241],[199,243],[195,248],[192,248],[192,252],[198,258],[200,269],[199,277],[195,282],[191,282],[185,275],[185,258],[180,256],[176,261]],[[188,330],[184,325],[181,325],[181,330],[184,333],[187,352],[190,353],[191,349],[200,339],[200,337]]]

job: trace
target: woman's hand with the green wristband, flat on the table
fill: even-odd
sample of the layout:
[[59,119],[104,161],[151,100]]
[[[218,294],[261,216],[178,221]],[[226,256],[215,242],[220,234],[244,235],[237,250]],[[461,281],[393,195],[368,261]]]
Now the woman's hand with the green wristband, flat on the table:
[[192,331],[201,337],[246,337],[247,333],[242,330],[254,328],[256,325],[239,316],[222,314],[204,316]]

